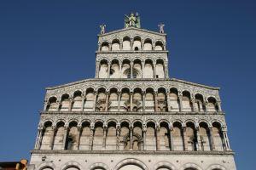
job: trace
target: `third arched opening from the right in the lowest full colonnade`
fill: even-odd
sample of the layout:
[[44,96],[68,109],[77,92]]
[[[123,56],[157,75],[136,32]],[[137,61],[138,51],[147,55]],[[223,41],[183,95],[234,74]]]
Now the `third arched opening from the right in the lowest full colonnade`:
[[197,136],[195,131],[195,124],[193,122],[186,123],[186,138],[188,142],[188,150],[197,150]]

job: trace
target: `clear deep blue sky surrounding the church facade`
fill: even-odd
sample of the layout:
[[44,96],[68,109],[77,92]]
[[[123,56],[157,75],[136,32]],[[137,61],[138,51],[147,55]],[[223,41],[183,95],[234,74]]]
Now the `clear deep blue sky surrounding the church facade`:
[[166,24],[170,77],[220,87],[238,169],[255,169],[255,1],[0,1],[0,161],[30,158],[44,88],[95,76],[96,34]]

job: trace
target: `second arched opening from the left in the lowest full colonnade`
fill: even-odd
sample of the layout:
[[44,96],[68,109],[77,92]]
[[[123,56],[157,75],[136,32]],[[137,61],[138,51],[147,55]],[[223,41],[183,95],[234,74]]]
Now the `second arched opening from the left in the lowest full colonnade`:
[[65,132],[65,123],[64,122],[58,122],[56,125],[56,133],[55,133],[55,141],[53,145],[53,150],[63,150],[63,138],[64,138],[64,132]]

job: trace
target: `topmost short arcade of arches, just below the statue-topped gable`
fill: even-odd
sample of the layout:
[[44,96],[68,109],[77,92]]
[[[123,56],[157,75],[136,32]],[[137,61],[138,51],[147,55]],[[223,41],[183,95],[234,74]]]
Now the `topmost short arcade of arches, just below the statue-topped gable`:
[[142,40],[141,37],[124,37],[121,41],[113,39],[112,42],[104,41],[99,43],[99,51],[119,51],[119,50],[133,50],[133,51],[151,51],[151,50],[166,50],[166,44],[157,40],[153,42],[151,38]]

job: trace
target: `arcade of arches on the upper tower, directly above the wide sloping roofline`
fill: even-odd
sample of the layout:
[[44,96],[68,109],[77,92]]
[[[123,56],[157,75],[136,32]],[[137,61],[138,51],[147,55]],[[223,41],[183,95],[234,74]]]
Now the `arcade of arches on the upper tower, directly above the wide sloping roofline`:
[[164,59],[101,59],[96,65],[96,78],[166,78],[167,63]]

